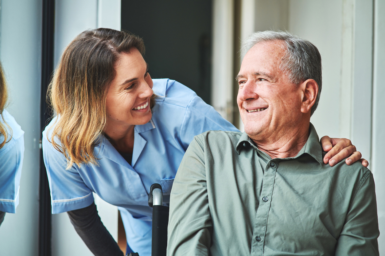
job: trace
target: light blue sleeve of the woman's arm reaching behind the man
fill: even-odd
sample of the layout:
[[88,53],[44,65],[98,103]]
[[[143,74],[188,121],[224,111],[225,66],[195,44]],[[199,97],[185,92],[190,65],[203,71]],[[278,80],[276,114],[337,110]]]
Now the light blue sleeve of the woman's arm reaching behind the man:
[[181,126],[181,140],[184,150],[187,149],[195,135],[207,132],[208,130],[239,132],[239,130],[224,119],[214,107],[206,104],[200,97],[195,96],[187,106]]

